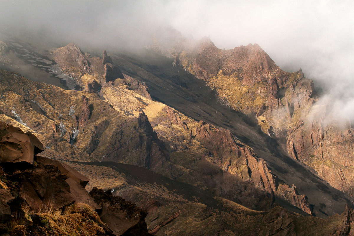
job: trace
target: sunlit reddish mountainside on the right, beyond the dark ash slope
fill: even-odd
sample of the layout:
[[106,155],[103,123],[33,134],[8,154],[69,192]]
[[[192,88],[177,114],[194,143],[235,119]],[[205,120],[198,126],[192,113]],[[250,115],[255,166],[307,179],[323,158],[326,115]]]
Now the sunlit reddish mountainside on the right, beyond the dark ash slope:
[[313,81],[301,69],[281,70],[257,44],[221,50],[209,38],[180,38],[161,49],[159,42],[150,46],[205,80],[233,109],[254,114],[264,133],[286,139],[282,145],[291,157],[353,197],[351,123],[329,120],[328,106],[316,105]]

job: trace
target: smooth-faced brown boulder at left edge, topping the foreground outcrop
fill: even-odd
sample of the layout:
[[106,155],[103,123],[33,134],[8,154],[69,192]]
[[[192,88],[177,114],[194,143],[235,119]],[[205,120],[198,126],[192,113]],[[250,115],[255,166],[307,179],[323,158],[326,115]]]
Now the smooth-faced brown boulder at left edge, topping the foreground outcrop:
[[0,121],[0,162],[28,162],[33,164],[33,156],[43,151],[40,141],[30,132]]

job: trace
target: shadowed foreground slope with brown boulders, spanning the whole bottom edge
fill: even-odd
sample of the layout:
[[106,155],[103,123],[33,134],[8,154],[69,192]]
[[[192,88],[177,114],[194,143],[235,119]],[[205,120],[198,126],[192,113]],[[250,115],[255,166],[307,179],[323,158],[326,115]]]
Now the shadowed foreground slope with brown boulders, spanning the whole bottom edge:
[[[116,172],[125,173],[127,186],[114,192],[139,200],[141,207],[146,209],[142,211],[135,204],[113,196],[111,190],[93,188],[88,193],[84,187],[89,179],[84,175],[62,162],[36,156],[44,148],[33,135],[24,134],[4,122],[0,125],[1,149],[23,154],[13,160],[11,152],[1,153],[1,233],[7,231],[11,236],[150,235],[144,221],[149,212],[152,234],[250,235],[251,232],[292,235],[297,231],[297,235],[306,235],[312,226],[313,235],[351,235],[353,210],[348,207],[342,215],[336,214],[326,220],[304,217],[281,207],[274,207],[270,212],[252,211],[226,199],[212,197],[208,192],[200,192],[191,185],[146,169],[138,170],[136,166],[81,162],[109,166]],[[28,160],[30,156],[32,160]],[[160,183],[167,188],[162,184],[160,187]],[[197,193],[201,198],[190,197]],[[158,194],[160,201],[165,200],[168,204],[161,206],[162,202],[151,199],[153,194]],[[174,213],[166,218],[169,212]]]

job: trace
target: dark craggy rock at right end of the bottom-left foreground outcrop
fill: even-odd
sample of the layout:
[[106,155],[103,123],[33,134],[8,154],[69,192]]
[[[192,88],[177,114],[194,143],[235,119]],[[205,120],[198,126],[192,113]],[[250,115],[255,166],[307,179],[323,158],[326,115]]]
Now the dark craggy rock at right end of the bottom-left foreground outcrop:
[[102,206],[99,217],[115,235],[150,235],[148,233],[145,217],[147,212],[127,202],[119,196],[113,196],[111,190],[103,191],[93,188],[90,195],[96,203]]

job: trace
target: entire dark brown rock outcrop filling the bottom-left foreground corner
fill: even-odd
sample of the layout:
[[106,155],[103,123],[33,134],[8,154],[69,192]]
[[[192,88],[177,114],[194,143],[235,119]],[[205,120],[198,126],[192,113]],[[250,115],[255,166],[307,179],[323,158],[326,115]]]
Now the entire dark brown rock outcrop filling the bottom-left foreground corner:
[[[2,122],[1,125],[5,127]],[[1,133],[4,133],[4,130],[6,131],[6,129],[2,129]],[[16,131],[19,132],[18,130]],[[26,136],[25,134],[23,135]],[[31,138],[33,139],[33,137]],[[38,141],[37,139],[33,140],[34,142]],[[9,143],[6,144],[11,145]],[[33,155],[34,153],[33,150],[24,151],[27,151],[27,155]],[[6,155],[5,152],[4,158],[6,158]],[[115,233],[114,235],[150,235],[144,221],[147,213],[137,208],[135,204],[126,202],[121,197],[113,197],[110,190],[104,192],[97,188],[91,191],[93,197],[95,197],[93,198],[85,190],[89,179],[84,175],[57,160],[42,156],[32,156],[32,159],[36,161],[33,166],[24,166],[17,162],[6,162],[0,166],[1,179],[4,180],[4,182],[0,182],[1,235],[9,226],[11,227],[9,229],[11,235],[15,235],[18,229],[21,229],[20,232],[23,232],[20,235],[24,235],[26,228],[33,232],[34,235],[40,235],[37,232],[38,230],[43,233],[46,231],[45,228],[47,225],[51,227],[56,225],[54,221],[50,221],[50,217],[52,217],[51,211],[63,207],[67,207],[67,213],[62,214],[68,214],[71,211],[74,211],[72,213],[76,214],[76,218],[72,219],[76,222],[70,222],[70,225],[79,224],[82,217],[90,217],[92,209],[99,211],[101,213],[101,220],[107,224],[104,230],[100,230],[100,234],[96,234],[92,220],[97,219],[90,218],[91,224],[93,224],[90,226],[92,235],[113,235],[112,231]],[[26,210],[26,212],[21,213],[25,211],[24,208],[21,208],[22,202],[29,205],[31,212]],[[72,205],[73,203],[84,203],[84,205]],[[87,208],[86,210],[85,207]],[[90,207],[92,209],[89,209]],[[48,211],[48,213],[43,213],[43,211]],[[13,218],[12,212],[16,214],[16,218],[18,219],[16,225],[20,225],[22,228],[19,226],[19,228],[16,228],[16,225],[10,224],[10,219]],[[40,214],[46,214],[46,218],[38,219],[38,217],[41,217]],[[97,213],[94,214],[97,215]],[[22,223],[20,220],[22,217],[26,218],[25,223]],[[57,217],[60,218],[62,215]],[[101,220],[98,221],[101,222]],[[46,226],[40,228],[38,224],[45,224]],[[67,229],[57,229],[56,227],[50,230],[53,232],[59,230],[61,232],[60,235],[62,235],[63,230]],[[80,228],[79,231],[81,230],[85,231],[86,228]]]

